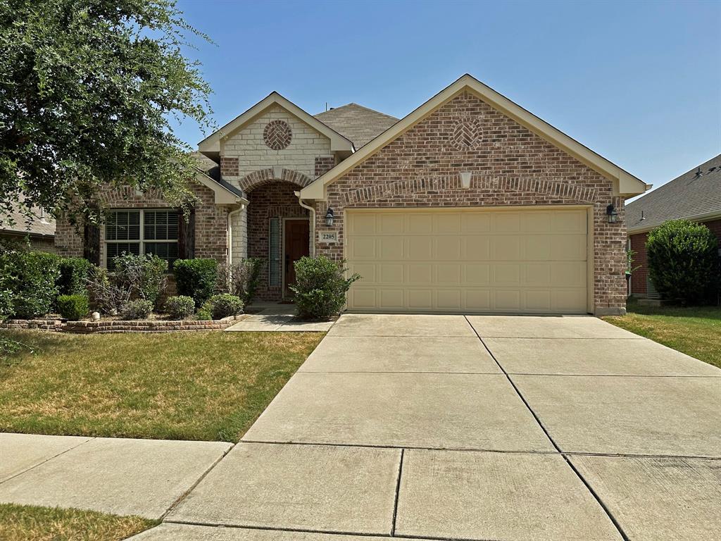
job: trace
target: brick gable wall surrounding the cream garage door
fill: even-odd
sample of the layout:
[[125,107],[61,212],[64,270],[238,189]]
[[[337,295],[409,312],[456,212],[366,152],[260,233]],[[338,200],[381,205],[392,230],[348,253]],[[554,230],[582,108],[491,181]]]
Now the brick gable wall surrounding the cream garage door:
[[[459,120],[476,123],[471,148],[451,144]],[[459,173],[466,171],[473,176],[464,189]],[[316,229],[328,229],[324,216],[331,206],[339,242],[317,243],[316,250],[342,257],[344,208],[593,203],[596,309],[623,309],[624,205],[611,188],[610,180],[464,92],[329,185],[327,203],[316,205]],[[609,203],[618,209],[616,224],[606,219]]]

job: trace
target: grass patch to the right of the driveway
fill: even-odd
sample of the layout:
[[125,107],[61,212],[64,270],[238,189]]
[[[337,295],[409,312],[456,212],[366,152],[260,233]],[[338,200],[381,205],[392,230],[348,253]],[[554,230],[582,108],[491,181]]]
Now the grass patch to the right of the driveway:
[[603,319],[721,368],[721,307],[646,307],[629,301],[627,310]]

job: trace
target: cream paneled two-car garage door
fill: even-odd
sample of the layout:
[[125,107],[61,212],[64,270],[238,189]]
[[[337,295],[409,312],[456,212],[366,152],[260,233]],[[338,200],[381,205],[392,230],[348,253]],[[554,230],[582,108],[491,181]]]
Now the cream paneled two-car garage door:
[[[550,214],[549,214],[549,211]],[[559,214],[553,214],[553,211],[559,211],[563,212],[565,214],[559,215]],[[575,213],[571,211],[576,211]],[[433,225],[430,225],[431,228],[433,228],[432,231],[430,231],[428,234],[419,234],[415,233],[412,234],[411,232],[408,232],[406,229],[409,228],[410,224],[410,215],[412,214],[432,214],[433,216],[443,216],[443,218],[437,218],[432,217],[428,218],[428,216],[424,216],[423,219],[415,220],[417,223],[423,223],[424,220],[431,220]],[[350,253],[351,250],[349,249],[349,243],[355,239],[358,241],[365,242],[366,246],[368,246],[369,250],[372,251],[373,254],[376,254],[371,257],[378,257],[377,254],[381,252],[381,250],[384,250],[386,253],[392,252],[394,249],[398,249],[402,246],[402,250],[409,250],[407,253],[410,253],[410,245],[409,242],[412,242],[410,240],[410,237],[413,238],[423,238],[423,237],[431,237],[432,240],[430,241],[433,243],[433,248],[429,248],[430,250],[433,250],[433,257],[438,256],[438,247],[445,247],[445,243],[438,243],[438,238],[440,236],[443,236],[443,231],[441,230],[443,228],[443,224],[450,224],[451,227],[448,229],[448,231],[451,231],[448,233],[448,236],[451,238],[456,237],[454,235],[453,226],[456,222],[459,224],[471,224],[470,227],[478,228],[479,224],[487,224],[492,223],[493,224],[503,224],[504,222],[508,221],[508,223],[513,222],[513,216],[511,214],[498,214],[498,213],[516,213],[516,217],[518,219],[519,224],[525,224],[524,226],[526,229],[529,227],[536,226],[536,223],[539,224],[539,226],[543,226],[544,224],[544,217],[547,219],[547,221],[550,223],[557,222],[558,216],[573,216],[575,214],[576,216],[576,222],[577,227],[579,228],[575,232],[570,232],[573,236],[575,236],[575,242],[578,242],[578,254],[582,254],[583,245],[580,243],[583,242],[583,239],[580,239],[579,236],[581,233],[581,226],[583,222],[583,215],[585,214],[585,261],[581,260],[581,255],[573,256],[574,258],[577,258],[575,260],[575,263],[578,263],[578,265],[575,268],[574,272],[578,272],[578,278],[579,283],[580,280],[585,278],[585,284],[583,284],[583,288],[585,289],[585,306],[583,304],[583,296],[579,297],[578,295],[583,295],[583,292],[580,291],[580,285],[575,286],[575,291],[569,292],[566,291],[566,293],[570,296],[576,295],[575,301],[572,301],[571,304],[567,304],[565,307],[562,306],[563,303],[555,302],[552,300],[552,296],[556,296],[555,298],[561,298],[562,296],[562,289],[559,287],[534,287],[529,286],[528,283],[526,283],[524,286],[499,286],[499,285],[492,285],[489,284],[487,286],[479,285],[479,286],[469,286],[468,282],[465,282],[465,285],[454,285],[451,283],[454,281],[457,276],[458,271],[454,273],[454,265],[446,265],[443,267],[446,271],[451,272],[453,275],[451,277],[451,281],[446,281],[446,285],[441,285],[443,280],[439,280],[438,277],[441,276],[439,272],[441,271],[440,265],[433,266],[432,271],[428,271],[428,269],[425,270],[426,273],[432,272],[433,278],[428,278],[428,282],[426,282],[427,286],[417,286],[415,285],[414,281],[410,281],[410,283],[414,283],[412,286],[408,286],[406,284],[400,284],[398,286],[389,285],[389,282],[387,280],[381,280],[379,278],[376,278],[376,274],[380,272],[380,260],[373,260],[366,258],[363,260],[363,256],[358,256],[358,253],[362,253],[363,249],[358,248],[360,245],[355,245],[355,251],[358,252],[355,254],[354,257],[353,253]],[[399,235],[394,235],[393,231],[391,231],[391,234],[379,234],[378,232],[373,229],[373,232],[369,232],[366,234],[366,239],[362,239],[363,234],[358,234],[358,232],[353,231],[353,226],[351,219],[355,220],[355,216],[359,216],[362,214],[396,214],[397,216],[389,217],[388,219],[384,220],[384,223],[387,222],[389,224],[398,223],[400,224],[399,220],[402,221],[405,225],[399,225],[401,229],[399,229]],[[468,216],[470,214],[471,216]],[[445,215],[445,216],[444,216]],[[450,215],[450,216],[449,216]],[[457,216],[456,216],[457,215]],[[405,218],[404,216],[409,216],[408,218]],[[534,216],[533,218],[529,218],[528,216]],[[420,216],[419,216],[420,218]],[[377,221],[378,219],[374,219]],[[559,223],[562,223],[561,221],[558,221]],[[445,313],[506,313],[506,314],[513,314],[513,313],[593,313],[593,287],[594,287],[594,280],[593,280],[593,267],[594,267],[594,261],[593,261],[593,206],[590,205],[538,205],[538,206],[495,206],[495,207],[451,207],[451,208],[443,208],[443,207],[419,207],[419,208],[349,208],[345,209],[344,211],[344,234],[343,234],[343,252],[344,252],[344,258],[348,260],[350,271],[358,271],[361,273],[361,276],[363,276],[364,273],[366,273],[366,283],[364,284],[363,280],[356,282],[353,287],[350,290],[350,293],[348,295],[348,310],[350,312],[389,312],[389,313],[409,313],[409,312],[445,312]],[[353,222],[355,223],[355,222]],[[360,222],[359,222],[360,223]],[[370,223],[370,221],[368,221]],[[476,224],[476,225],[474,225]],[[375,227],[375,226],[373,226]],[[393,230],[393,225],[391,226],[391,229]],[[428,227],[428,226],[425,226]],[[459,227],[463,228],[464,225],[459,225]],[[459,239],[456,243],[450,243],[451,245],[455,244],[458,245],[458,250],[466,250],[466,244],[468,243],[469,239],[474,239],[475,241],[482,241],[485,239],[488,243],[495,243],[494,250],[495,253],[498,253],[498,250],[503,251],[503,246],[505,246],[505,242],[500,242],[500,236],[504,234],[508,234],[508,232],[505,232],[503,230],[502,226],[498,226],[498,230],[484,230],[477,229],[478,232],[475,233],[468,230],[469,226],[466,225],[466,229],[458,229],[459,231]],[[486,226],[487,227],[487,226]],[[494,227],[496,227],[494,225]],[[523,226],[521,226],[522,228]],[[439,229],[441,228],[441,229]],[[465,231],[464,233],[460,233],[461,231]],[[541,229],[539,229],[541,231]],[[511,230],[510,233],[513,233]],[[523,233],[526,233],[525,235]],[[535,234],[535,232],[529,231],[518,231],[518,242],[521,244],[521,239],[523,237],[527,237],[528,234]],[[559,231],[552,231],[549,229],[549,236],[553,236],[559,234]],[[513,237],[514,235],[511,234]],[[381,243],[381,237],[386,237],[390,239],[388,242],[386,242],[386,245],[384,247],[380,246]],[[399,238],[391,238],[391,237],[399,237]],[[435,239],[434,239],[435,237]],[[508,237],[506,237],[508,238]],[[540,239],[541,237],[537,237]],[[465,240],[464,240],[465,239]],[[464,244],[465,242],[465,244]],[[550,242],[550,241],[549,241]],[[373,243],[373,247],[370,247],[371,243]],[[420,243],[423,244],[423,243]],[[490,245],[490,244],[489,244]],[[535,246],[533,242],[526,242],[526,249],[523,250],[531,250]],[[449,247],[448,250],[451,250]],[[466,250],[467,251],[467,250]],[[474,252],[476,253],[476,252]],[[488,252],[490,254],[490,252]],[[525,253],[525,252],[523,252]],[[459,256],[460,258],[461,256]],[[359,259],[360,258],[360,259]],[[467,256],[464,255],[464,258],[467,259]],[[460,272],[462,273],[462,276],[465,278],[466,276],[466,269],[465,265],[468,263],[468,261],[464,258],[461,258],[460,260],[455,261],[456,264],[463,266],[463,270]],[[433,260],[423,260],[418,261],[417,263],[435,263],[435,261],[440,259]],[[476,263],[483,263],[485,259],[477,260]],[[521,260],[510,260],[511,262],[518,262],[521,263],[521,265],[518,265],[518,268],[521,269],[521,273],[526,272],[531,274],[532,265],[534,264],[532,259],[521,259]],[[544,263],[558,263],[555,260],[541,260]],[[413,260],[411,259],[410,262],[408,260],[404,260],[402,263],[400,261],[395,261],[391,265],[384,265],[384,273],[386,273],[388,276],[392,276],[395,273],[395,279],[400,280],[401,282],[407,282],[408,275],[410,273],[410,268],[408,268],[408,264],[412,264]],[[488,258],[488,265],[494,265],[490,268],[490,273],[494,273],[492,276],[495,276],[496,274],[501,274],[501,267],[502,265],[506,264],[505,260],[503,258],[500,259],[494,259],[494,258]],[[583,274],[583,266],[582,264],[585,264],[585,276],[581,276]],[[403,268],[401,269],[400,266],[403,265]],[[500,266],[499,266],[500,265]],[[529,266],[531,265],[531,266]],[[561,265],[561,263],[559,263]],[[428,265],[425,265],[428,266]],[[524,271],[523,268],[526,270]],[[568,266],[568,265],[567,265]],[[423,271],[423,265],[418,266],[419,269]],[[516,270],[513,269],[513,265],[510,265],[510,270]],[[536,267],[537,268],[537,267]],[[399,278],[400,273],[403,273],[404,277]],[[464,281],[464,278],[461,278],[461,282]],[[368,281],[369,280],[369,281]],[[379,283],[379,285],[374,285],[376,283]],[[383,284],[383,285],[380,285]],[[375,293],[371,293],[371,289],[375,290]],[[381,295],[381,291],[384,293],[384,300],[392,299],[391,302],[380,302],[379,296]],[[491,298],[491,296],[493,298]],[[508,299],[507,304],[504,304],[505,300],[503,297],[506,297]],[[496,302],[497,299],[500,299],[498,302]],[[516,305],[515,299],[519,299],[519,304]],[[550,300],[549,300],[550,299]],[[384,306],[379,306],[379,304],[384,304]],[[548,307],[551,305],[554,305],[551,309],[541,309],[541,307]],[[518,306],[520,308],[513,308],[513,306]],[[528,308],[527,308],[528,307]],[[568,307],[572,307],[569,309]]]

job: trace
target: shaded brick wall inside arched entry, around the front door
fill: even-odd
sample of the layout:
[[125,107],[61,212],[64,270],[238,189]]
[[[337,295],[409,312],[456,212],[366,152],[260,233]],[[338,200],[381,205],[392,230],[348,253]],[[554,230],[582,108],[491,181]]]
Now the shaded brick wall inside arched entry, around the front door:
[[268,284],[268,229],[271,218],[308,216],[308,210],[298,205],[298,198],[293,193],[296,190],[298,186],[291,182],[272,182],[248,194],[248,257],[265,260],[258,287],[260,299],[278,300],[283,296],[280,286]]

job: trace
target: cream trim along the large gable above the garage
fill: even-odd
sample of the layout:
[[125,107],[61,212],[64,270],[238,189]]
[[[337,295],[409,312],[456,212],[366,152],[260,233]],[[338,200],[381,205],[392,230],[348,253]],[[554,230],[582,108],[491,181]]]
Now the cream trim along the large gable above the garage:
[[428,118],[429,115],[433,114],[436,110],[462,92],[469,92],[473,94],[478,97],[479,100],[482,100],[495,110],[498,110],[500,113],[512,118],[518,124],[525,126],[530,131],[536,133],[536,135],[544,138],[554,146],[557,146],[557,148],[567,152],[567,154],[575,157],[575,159],[578,159],[578,161],[587,165],[592,170],[595,170],[604,177],[609,178],[614,183],[614,195],[630,197],[632,195],[643,193],[647,189],[645,182],[642,182],[629,172],[622,170],[617,165],[609,162],[609,160],[588,149],[588,147],[583,146],[583,144],[575,141],[575,139],[570,138],[565,133],[562,133],[550,124],[544,122],[544,120],[532,115],[527,110],[523,109],[523,107],[508,100],[508,98],[498,92],[495,92],[495,90],[487,87],[477,79],[474,79],[474,77],[466,74],[449,87],[446,87],[446,89],[443,89],[438,94],[435,94],[434,97],[418,107],[416,110],[412,111],[409,115],[402,118],[402,120],[399,120],[399,122],[395,123],[391,128],[387,129],[379,136],[376,136],[376,138],[373,138],[372,141],[356,151],[351,157],[345,159],[343,162],[340,162],[340,164],[337,164],[332,170],[329,170],[327,173],[317,178],[317,180],[315,180],[311,185],[303,188],[303,190],[301,190],[301,198],[324,199],[325,188],[327,185],[335,182],[335,180],[350,171],[353,167],[368,159],[368,157],[371,157],[399,136],[402,136],[402,134],[412,128],[412,126],[415,126],[420,121]]

